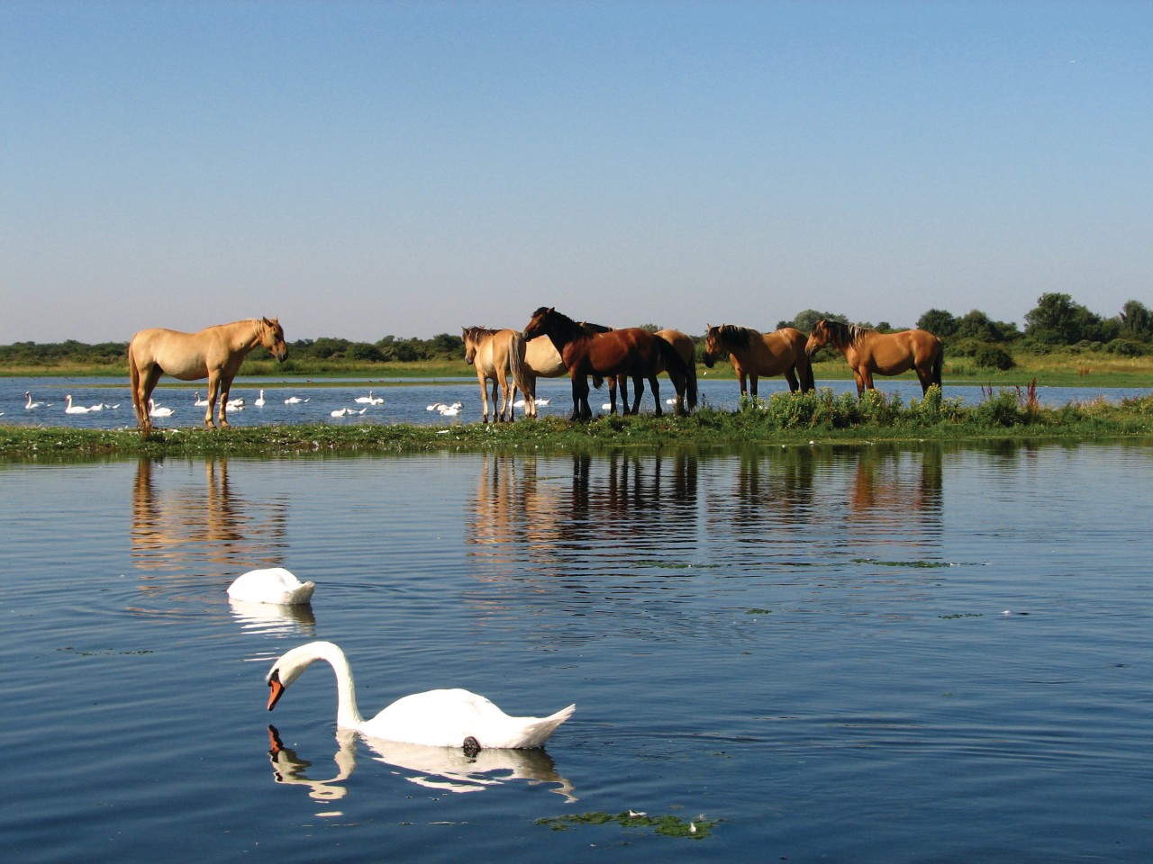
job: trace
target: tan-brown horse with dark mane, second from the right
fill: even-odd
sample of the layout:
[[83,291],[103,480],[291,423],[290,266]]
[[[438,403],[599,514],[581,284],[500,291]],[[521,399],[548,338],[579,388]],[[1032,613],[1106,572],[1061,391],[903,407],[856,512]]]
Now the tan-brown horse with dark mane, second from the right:
[[805,354],[805,334],[796,327],[782,327],[774,333],[761,333],[751,327],[722,324],[719,327],[704,325],[704,365],[713,369],[717,358],[729,354],[737,377],[740,379],[740,395],[746,394],[745,379],[752,380],[752,395],[756,395],[756,379],[761,376],[783,374],[793,393],[799,387],[802,393],[816,388],[813,367]]

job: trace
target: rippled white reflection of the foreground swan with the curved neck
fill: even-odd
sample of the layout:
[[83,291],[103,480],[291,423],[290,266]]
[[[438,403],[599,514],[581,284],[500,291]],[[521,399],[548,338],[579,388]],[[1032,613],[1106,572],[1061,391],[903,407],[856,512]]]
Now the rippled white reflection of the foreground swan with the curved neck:
[[332,757],[337,764],[337,773],[318,780],[306,773],[312,764],[300,758],[292,748],[285,746],[278,729],[270,726],[269,761],[272,763],[272,776],[278,783],[309,787],[308,796],[315,801],[338,801],[348,793],[341,782],[356,768],[357,738],[376,753],[372,759],[398,768],[394,773],[427,789],[470,793],[513,780],[527,780],[530,783],[556,783],[557,788],[552,791],[564,796],[566,803],[576,801],[572,783],[557,773],[552,757],[540,748],[488,749],[469,756],[461,748],[404,744],[359,735],[352,729],[337,730],[339,749]]

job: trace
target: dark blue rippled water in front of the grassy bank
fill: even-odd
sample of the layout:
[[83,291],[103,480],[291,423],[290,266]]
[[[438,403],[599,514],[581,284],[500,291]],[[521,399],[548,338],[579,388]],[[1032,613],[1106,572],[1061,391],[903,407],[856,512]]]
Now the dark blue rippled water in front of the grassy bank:
[[[1151,480],[1153,442],[2,465],[0,855],[1146,862]],[[274,564],[310,609],[229,605]],[[326,667],[264,710],[314,638],[368,714],[576,714],[475,764],[338,741]],[[719,821],[536,824],[630,809]]]

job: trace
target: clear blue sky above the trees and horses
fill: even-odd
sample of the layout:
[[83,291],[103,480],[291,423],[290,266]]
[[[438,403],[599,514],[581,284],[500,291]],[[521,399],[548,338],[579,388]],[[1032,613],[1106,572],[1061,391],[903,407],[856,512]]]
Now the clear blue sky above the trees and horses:
[[1153,2],[0,2],[0,343],[1153,306]]

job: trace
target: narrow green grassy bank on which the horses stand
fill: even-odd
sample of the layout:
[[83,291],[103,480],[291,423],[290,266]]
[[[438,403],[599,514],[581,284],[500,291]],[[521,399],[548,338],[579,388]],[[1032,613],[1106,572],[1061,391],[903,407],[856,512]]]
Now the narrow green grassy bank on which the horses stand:
[[874,440],[1000,440],[1150,438],[1153,396],[1121,404],[1094,402],[1042,408],[1028,388],[1002,388],[979,406],[943,399],[823,389],[778,393],[738,411],[702,409],[688,417],[602,417],[572,424],[559,418],[511,424],[443,426],[326,424],[233,426],[227,430],[165,430],[143,437],[128,430],[0,426],[0,460],[100,456],[264,456],[413,453],[431,450],[573,452],[636,447],[728,447]]

